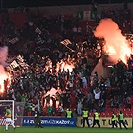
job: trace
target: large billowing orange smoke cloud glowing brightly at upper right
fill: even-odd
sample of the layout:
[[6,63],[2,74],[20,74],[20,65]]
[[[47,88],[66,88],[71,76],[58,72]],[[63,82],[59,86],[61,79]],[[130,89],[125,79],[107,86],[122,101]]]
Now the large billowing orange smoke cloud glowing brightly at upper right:
[[127,56],[130,56],[131,48],[117,23],[109,18],[102,19],[96,27],[94,35],[98,38],[104,38],[104,52],[108,55],[113,55],[110,58],[114,62],[122,60],[127,64]]

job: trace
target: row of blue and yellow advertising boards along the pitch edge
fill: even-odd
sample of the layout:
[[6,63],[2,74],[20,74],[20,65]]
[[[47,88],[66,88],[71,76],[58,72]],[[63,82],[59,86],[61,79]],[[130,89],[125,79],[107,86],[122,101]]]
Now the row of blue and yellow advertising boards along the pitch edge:
[[[90,126],[93,124],[93,117],[88,118]],[[57,127],[83,127],[82,117],[77,118],[61,118],[61,117],[41,117],[42,126]],[[119,122],[117,121],[119,125]],[[133,128],[133,118],[125,118],[125,124],[128,128]],[[16,126],[34,126],[34,117],[22,117],[15,121]],[[100,117],[101,127],[112,127],[110,117]],[[0,126],[5,126],[5,118],[0,117]],[[87,127],[87,124],[85,124]]]

